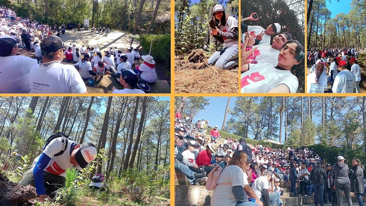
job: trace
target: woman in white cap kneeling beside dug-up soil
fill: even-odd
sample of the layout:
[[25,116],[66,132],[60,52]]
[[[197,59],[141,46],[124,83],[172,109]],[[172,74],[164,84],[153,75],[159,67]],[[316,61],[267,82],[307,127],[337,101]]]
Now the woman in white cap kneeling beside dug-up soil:
[[223,44],[223,48],[214,52],[207,60],[209,65],[215,65],[220,69],[232,69],[238,65],[239,55],[239,26],[238,19],[225,14],[222,5],[216,4],[213,7],[213,23],[210,35]]

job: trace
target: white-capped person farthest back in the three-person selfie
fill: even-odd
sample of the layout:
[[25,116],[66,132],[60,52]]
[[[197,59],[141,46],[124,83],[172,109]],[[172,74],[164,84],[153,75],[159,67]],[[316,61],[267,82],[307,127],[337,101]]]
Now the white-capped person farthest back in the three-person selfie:
[[[244,18],[242,21],[249,20],[249,18]],[[271,23],[264,29],[262,26],[257,25],[246,25],[243,22],[240,23],[242,32],[249,31],[250,34],[254,34],[255,44],[270,44],[271,35],[279,33],[281,31],[281,25],[279,23]],[[243,34],[243,39],[244,38]]]

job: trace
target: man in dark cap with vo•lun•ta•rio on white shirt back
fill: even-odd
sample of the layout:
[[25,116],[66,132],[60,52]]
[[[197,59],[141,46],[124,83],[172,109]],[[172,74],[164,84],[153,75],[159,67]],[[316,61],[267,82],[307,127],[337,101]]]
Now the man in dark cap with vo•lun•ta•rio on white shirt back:
[[61,64],[64,58],[62,47],[62,40],[57,36],[42,41],[43,60],[29,71],[31,93],[87,93],[85,83],[75,67]]

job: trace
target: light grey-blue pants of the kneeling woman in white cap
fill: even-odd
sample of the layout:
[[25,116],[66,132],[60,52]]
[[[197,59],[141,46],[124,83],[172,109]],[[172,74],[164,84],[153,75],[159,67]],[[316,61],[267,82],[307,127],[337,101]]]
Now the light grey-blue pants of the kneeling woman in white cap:
[[220,69],[231,69],[238,65],[239,46],[226,47],[214,52],[207,60],[209,65]]

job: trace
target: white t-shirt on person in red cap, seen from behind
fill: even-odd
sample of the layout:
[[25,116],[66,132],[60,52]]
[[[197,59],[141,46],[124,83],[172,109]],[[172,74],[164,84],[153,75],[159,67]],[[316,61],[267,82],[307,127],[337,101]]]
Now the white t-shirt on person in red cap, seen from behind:
[[347,69],[337,74],[333,82],[333,93],[354,93],[356,77]]

